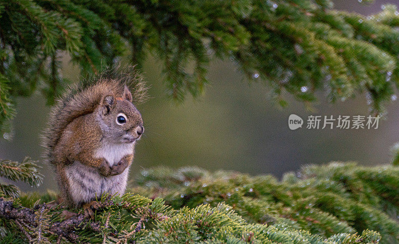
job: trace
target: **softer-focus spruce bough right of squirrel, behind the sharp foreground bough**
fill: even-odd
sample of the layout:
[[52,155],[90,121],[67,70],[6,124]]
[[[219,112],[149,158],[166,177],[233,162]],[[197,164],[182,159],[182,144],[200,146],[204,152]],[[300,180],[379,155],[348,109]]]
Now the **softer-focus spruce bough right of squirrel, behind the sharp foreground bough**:
[[174,209],[216,207],[223,202],[251,224],[289,226],[340,240],[373,230],[381,234],[381,243],[399,243],[399,168],[395,166],[305,166],[298,174],[285,174],[282,181],[270,175],[160,167],[143,170],[135,182],[139,186],[133,192],[162,197]]

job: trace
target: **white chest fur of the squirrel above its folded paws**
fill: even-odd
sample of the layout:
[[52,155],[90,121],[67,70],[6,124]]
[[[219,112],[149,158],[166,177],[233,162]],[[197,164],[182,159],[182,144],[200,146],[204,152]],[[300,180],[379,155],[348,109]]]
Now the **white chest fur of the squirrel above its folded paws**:
[[133,150],[134,143],[108,144],[99,148],[94,157],[105,159],[112,166],[126,155],[133,154]]

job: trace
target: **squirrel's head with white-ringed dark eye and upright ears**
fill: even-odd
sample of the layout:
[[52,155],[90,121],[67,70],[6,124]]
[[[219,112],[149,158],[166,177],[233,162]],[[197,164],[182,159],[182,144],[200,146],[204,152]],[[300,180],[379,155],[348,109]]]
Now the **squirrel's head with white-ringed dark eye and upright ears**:
[[98,109],[104,137],[114,143],[133,143],[144,133],[143,119],[125,85],[122,97],[107,95]]

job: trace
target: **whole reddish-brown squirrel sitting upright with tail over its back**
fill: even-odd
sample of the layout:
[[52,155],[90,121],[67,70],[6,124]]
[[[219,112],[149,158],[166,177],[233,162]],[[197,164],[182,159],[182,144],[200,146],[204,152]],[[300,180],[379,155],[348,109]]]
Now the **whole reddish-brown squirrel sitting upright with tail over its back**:
[[69,87],[52,107],[43,136],[61,198],[89,214],[96,196],[124,193],[134,145],[144,132],[128,87],[135,86],[136,100],[145,98],[141,77],[110,74]]

